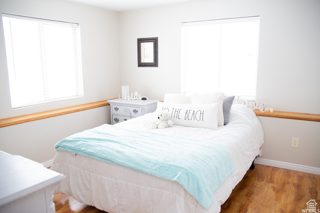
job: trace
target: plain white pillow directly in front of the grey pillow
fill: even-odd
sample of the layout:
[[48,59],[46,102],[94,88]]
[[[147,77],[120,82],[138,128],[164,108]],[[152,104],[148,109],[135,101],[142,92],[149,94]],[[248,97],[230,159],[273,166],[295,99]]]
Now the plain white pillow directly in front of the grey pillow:
[[211,104],[218,103],[218,126],[223,126],[224,118],[223,118],[223,92],[209,93],[209,94],[192,94],[191,95],[191,103],[192,104]]

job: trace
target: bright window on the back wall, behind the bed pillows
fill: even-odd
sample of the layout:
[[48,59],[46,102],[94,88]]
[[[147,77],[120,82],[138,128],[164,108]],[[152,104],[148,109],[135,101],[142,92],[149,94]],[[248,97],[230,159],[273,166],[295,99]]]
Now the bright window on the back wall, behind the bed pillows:
[[259,24],[260,17],[183,23],[181,93],[255,100]]

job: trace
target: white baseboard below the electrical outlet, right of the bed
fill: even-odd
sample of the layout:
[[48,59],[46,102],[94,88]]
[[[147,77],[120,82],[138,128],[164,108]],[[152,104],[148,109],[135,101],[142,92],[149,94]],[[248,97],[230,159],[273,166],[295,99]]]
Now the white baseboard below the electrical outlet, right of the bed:
[[274,167],[283,168],[283,169],[290,169],[290,170],[295,170],[295,171],[303,171],[303,172],[308,172],[308,173],[320,175],[320,168],[311,167],[311,166],[290,164],[290,163],[286,163],[286,162],[268,160],[268,159],[263,159],[263,158],[256,158],[254,160],[254,163],[266,165],[266,166],[274,166]]

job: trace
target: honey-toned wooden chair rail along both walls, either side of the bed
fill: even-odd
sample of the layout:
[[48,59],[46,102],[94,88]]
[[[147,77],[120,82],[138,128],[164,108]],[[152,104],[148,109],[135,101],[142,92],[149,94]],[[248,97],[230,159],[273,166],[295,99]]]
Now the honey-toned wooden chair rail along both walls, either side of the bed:
[[[32,113],[27,115],[20,115],[20,116],[15,116],[11,118],[2,118],[0,119],[0,128],[5,126],[23,124],[26,122],[36,121],[44,118],[52,118],[60,115],[83,111],[83,110],[90,110],[97,107],[108,106],[110,105],[108,103],[108,100],[85,103],[81,105],[65,107],[65,108],[60,108],[56,110],[49,110],[44,112],[37,112],[37,113]],[[259,110],[254,110],[254,113],[257,116],[264,116],[264,117],[287,118],[287,119],[295,119],[295,120],[320,122],[320,114],[308,114],[308,113],[284,112],[284,111],[274,111],[273,113],[270,113],[270,112],[260,112]]]

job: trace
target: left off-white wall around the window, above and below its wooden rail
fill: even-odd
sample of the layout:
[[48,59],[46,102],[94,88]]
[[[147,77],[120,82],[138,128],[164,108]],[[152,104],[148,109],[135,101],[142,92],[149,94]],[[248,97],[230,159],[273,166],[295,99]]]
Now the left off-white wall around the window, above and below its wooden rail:
[[[2,0],[0,12],[78,23],[81,30],[84,98],[23,109],[11,108],[2,19],[0,21],[0,118],[118,97],[117,12],[62,0]],[[54,144],[85,129],[110,123],[110,107],[0,128],[0,150],[39,163],[55,155]]]

